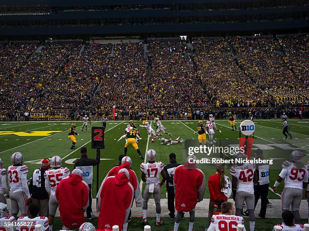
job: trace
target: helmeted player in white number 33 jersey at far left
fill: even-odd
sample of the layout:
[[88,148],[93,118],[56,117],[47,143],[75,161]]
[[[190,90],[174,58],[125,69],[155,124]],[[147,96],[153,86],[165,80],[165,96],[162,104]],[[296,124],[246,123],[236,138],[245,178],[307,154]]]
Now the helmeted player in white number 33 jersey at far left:
[[31,196],[27,183],[28,167],[23,165],[23,155],[20,152],[13,153],[11,160],[13,165],[8,167],[8,181],[12,215],[16,218],[19,211],[22,216],[27,214]]

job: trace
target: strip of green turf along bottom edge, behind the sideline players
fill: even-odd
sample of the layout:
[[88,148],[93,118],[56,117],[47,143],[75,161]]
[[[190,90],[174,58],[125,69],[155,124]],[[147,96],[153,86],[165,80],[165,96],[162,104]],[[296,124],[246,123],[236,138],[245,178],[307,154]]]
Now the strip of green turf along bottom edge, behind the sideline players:
[[[140,217],[132,217],[132,220],[129,222],[128,230],[134,230],[134,231],[143,231],[143,224],[140,223],[141,218]],[[174,220],[170,220],[167,217],[163,217],[162,220],[164,221],[164,224],[157,227],[155,225],[156,218],[155,217],[149,217],[147,220],[147,224],[151,226],[151,231],[169,231],[173,230],[174,228]],[[305,223],[306,220],[301,220],[301,223]],[[94,218],[91,220],[91,223],[94,226],[97,226],[97,218]],[[274,219],[274,218],[266,218],[261,219],[257,218],[255,219],[255,230],[258,231],[270,231],[273,230],[274,225],[281,224],[281,219]],[[185,217],[183,220],[180,221],[180,225],[178,230],[179,231],[187,231],[189,226],[189,218]],[[194,220],[194,226],[193,229],[195,231],[204,231],[205,228],[209,227],[208,219],[207,218],[195,218]],[[249,229],[249,219],[245,219],[245,227],[246,230]],[[61,220],[59,217],[55,218],[55,224],[54,224],[54,230],[60,230],[61,229]]]

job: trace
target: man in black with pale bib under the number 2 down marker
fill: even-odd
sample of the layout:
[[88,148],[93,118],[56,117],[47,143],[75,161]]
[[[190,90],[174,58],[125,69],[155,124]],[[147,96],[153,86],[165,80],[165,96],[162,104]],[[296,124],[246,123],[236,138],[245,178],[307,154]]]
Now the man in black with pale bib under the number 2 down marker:
[[93,181],[93,166],[97,165],[100,162],[100,158],[97,157],[95,159],[87,157],[87,149],[86,147],[82,147],[80,149],[80,158],[76,159],[74,164],[74,169],[78,168],[83,172],[83,180],[88,184],[89,187],[89,206],[86,210],[87,220],[91,220],[94,218],[91,209],[92,203],[92,181]]

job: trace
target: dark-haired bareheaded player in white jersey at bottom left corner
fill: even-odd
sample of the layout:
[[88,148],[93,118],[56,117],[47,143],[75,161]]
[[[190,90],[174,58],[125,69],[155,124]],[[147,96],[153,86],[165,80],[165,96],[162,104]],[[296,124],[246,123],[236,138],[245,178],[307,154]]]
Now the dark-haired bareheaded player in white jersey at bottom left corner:
[[29,224],[25,226],[17,226],[18,231],[32,231],[36,224],[42,225],[41,231],[48,230],[48,218],[45,216],[37,216],[40,208],[36,204],[29,205],[28,216],[21,216],[17,219],[17,222],[21,224]]

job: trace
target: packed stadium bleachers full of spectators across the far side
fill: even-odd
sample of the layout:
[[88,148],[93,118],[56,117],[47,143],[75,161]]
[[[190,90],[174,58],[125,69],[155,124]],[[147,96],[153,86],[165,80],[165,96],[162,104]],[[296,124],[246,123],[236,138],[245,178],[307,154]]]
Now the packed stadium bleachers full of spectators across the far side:
[[299,107],[307,48],[306,35],[3,43],[0,109]]

